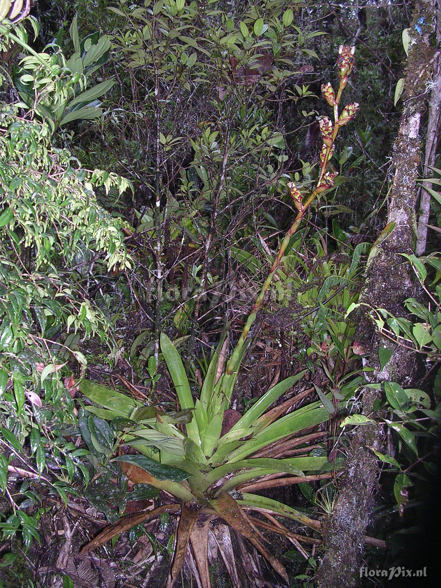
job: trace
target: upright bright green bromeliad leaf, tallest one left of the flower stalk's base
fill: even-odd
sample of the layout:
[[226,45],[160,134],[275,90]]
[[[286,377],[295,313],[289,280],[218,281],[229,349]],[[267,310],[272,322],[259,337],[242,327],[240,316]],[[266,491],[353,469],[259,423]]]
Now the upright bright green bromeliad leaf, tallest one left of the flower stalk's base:
[[[172,377],[181,409],[194,409],[195,403],[193,402],[193,396],[181,358],[165,333],[161,333],[161,352]],[[199,429],[196,419],[193,418],[185,427],[190,439],[200,446],[201,440],[199,439]]]

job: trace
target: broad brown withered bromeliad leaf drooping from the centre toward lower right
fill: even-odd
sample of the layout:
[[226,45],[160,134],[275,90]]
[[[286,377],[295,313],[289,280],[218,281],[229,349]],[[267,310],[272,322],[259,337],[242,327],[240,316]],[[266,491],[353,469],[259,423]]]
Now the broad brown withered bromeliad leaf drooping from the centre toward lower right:
[[233,527],[236,532],[243,535],[243,537],[246,537],[256,547],[276,572],[288,583],[288,574],[286,573],[285,567],[263,546],[262,539],[264,538],[262,534],[250,522],[248,516],[246,516],[236,500],[228,492],[221,492],[219,498],[210,500],[210,504],[226,523]]

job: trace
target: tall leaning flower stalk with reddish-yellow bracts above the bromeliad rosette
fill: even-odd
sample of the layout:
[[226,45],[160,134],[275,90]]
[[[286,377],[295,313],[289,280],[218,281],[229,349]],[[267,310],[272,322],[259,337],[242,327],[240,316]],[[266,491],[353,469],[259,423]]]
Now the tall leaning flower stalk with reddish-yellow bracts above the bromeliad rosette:
[[248,336],[249,330],[256,319],[257,312],[262,306],[263,300],[265,299],[266,292],[274,275],[279,267],[280,260],[283,257],[283,254],[286,251],[286,248],[289,245],[289,241],[291,237],[294,235],[296,230],[298,230],[300,223],[302,222],[306,211],[308,211],[309,206],[315,201],[316,197],[326,190],[329,190],[333,187],[335,178],[338,175],[338,172],[328,172],[326,171],[328,168],[328,163],[330,158],[332,158],[334,152],[334,142],[336,136],[338,135],[340,126],[346,125],[350,120],[354,118],[356,112],[359,110],[358,103],[352,103],[345,106],[343,109],[340,117],[338,112],[340,98],[342,96],[342,92],[348,83],[348,75],[352,72],[353,63],[354,63],[354,52],[355,47],[350,47],[349,45],[340,45],[339,48],[339,58],[337,62],[337,70],[338,70],[338,78],[340,80],[339,89],[337,95],[332,88],[332,85],[328,82],[322,85],[322,93],[323,97],[325,98],[326,102],[333,108],[333,116],[334,116],[334,124],[330,121],[328,116],[322,116],[319,119],[319,126],[320,131],[322,132],[322,139],[323,139],[323,146],[320,151],[320,173],[319,178],[316,183],[315,188],[310,193],[308,198],[306,198],[305,202],[302,202],[302,196],[298,187],[293,183],[289,182],[288,187],[290,189],[290,195],[294,201],[296,209],[298,210],[297,216],[294,219],[294,222],[286,232],[285,237],[280,244],[279,251],[276,255],[276,258],[273,262],[272,268],[263,283],[262,289],[256,301],[253,305],[253,308],[246,320],[245,326],[243,327],[242,333],[239,337],[238,342],[236,343],[236,347],[233,350],[232,355],[230,356],[228,363],[226,364],[225,375],[232,374],[235,370],[238,369],[238,362],[240,361],[241,352],[243,345],[246,342],[246,338]]

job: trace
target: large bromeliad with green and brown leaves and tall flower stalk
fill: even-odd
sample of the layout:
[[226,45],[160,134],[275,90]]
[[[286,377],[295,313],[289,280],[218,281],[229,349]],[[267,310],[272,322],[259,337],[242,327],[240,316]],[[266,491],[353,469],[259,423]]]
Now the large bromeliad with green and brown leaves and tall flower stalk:
[[[265,539],[256,528],[261,522],[250,517],[247,511],[282,515],[315,531],[320,529],[318,520],[310,519],[276,500],[247,492],[247,489],[261,489],[269,482],[268,477],[273,478],[280,473],[292,476],[288,482],[285,479],[285,483],[322,479],[332,475],[329,472],[319,473],[329,466],[326,457],[288,457],[292,455],[290,450],[293,447],[307,445],[310,440],[317,439],[317,435],[323,435],[305,435],[305,430],[325,423],[335,413],[330,393],[326,396],[320,392],[318,402],[292,410],[311,393],[311,390],[303,390],[270,409],[280,396],[299,382],[306,373],[304,370],[271,387],[229,430],[223,425],[225,411],[229,408],[248,345],[250,327],[280,260],[309,206],[320,193],[332,188],[335,181],[336,173],[327,171],[334,142],[340,127],[346,125],[358,111],[358,104],[354,103],[345,106],[339,114],[340,98],[353,66],[353,53],[354,48],[349,46],[341,46],[339,49],[340,84],[337,94],[335,95],[329,83],[322,86],[326,101],[333,107],[335,122],[332,124],[328,117],[320,119],[323,147],[316,187],[303,198],[299,189],[293,183],[290,184],[298,215],[283,239],[268,278],[229,359],[226,357],[227,340],[219,343],[209,364],[200,397],[193,400],[179,353],[164,333],[161,335],[161,351],[179,400],[179,413],[166,415],[152,406],[143,406],[132,397],[88,380],[79,384],[83,395],[95,404],[86,406],[90,416],[83,416],[80,422],[80,429],[89,447],[107,453],[109,459],[118,449],[119,455],[115,460],[120,462],[129,480],[163,490],[174,501],[171,505],[160,506],[151,512],[125,517],[103,530],[84,549],[91,550],[134,524],[155,519],[163,512],[180,513],[173,563],[168,577],[169,588],[175,584],[181,573],[189,543],[192,545],[201,585],[211,585],[207,553],[209,527],[200,523],[203,517],[195,526],[199,515],[205,516],[205,520],[206,517],[223,519],[227,524],[227,532],[230,526],[246,537],[287,581],[286,570],[265,547]],[[287,414],[289,410],[292,412]],[[107,421],[110,421],[110,425]],[[141,455],[122,455],[124,445],[135,447]],[[305,472],[315,473],[315,476],[305,477]],[[256,479],[259,482],[250,485],[250,480]],[[283,526],[265,523],[263,528],[289,536],[289,531]],[[302,550],[301,547],[299,549]],[[228,570],[232,569],[227,562],[226,567]],[[231,573],[234,576],[234,571]],[[239,581],[233,577],[233,583],[238,585]]]

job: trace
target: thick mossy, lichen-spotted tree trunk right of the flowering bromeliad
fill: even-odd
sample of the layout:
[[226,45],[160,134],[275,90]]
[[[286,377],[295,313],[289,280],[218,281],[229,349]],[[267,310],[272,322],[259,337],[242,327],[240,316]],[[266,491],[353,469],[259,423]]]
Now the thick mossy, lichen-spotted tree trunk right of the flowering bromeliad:
[[[367,272],[361,301],[373,308],[386,308],[403,316],[403,300],[414,295],[412,275],[400,253],[412,253],[416,224],[418,165],[420,161],[420,119],[425,107],[427,82],[435,55],[429,36],[435,26],[436,0],[417,0],[409,25],[410,45],[405,70],[403,112],[393,149],[392,195],[388,223],[396,223],[381,243]],[[360,319],[357,340],[368,354],[367,364],[374,368],[372,381],[409,382],[415,366],[415,353],[394,345],[373,328],[367,317]],[[378,348],[393,349],[392,358],[380,370]],[[372,416],[373,403],[380,392],[365,388],[362,413]],[[379,475],[377,459],[369,447],[380,449],[383,439],[377,425],[360,426],[351,438],[348,461],[342,476],[335,509],[323,528],[323,559],[316,581],[320,588],[350,588],[359,577],[363,536],[372,516],[373,495]]]

